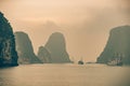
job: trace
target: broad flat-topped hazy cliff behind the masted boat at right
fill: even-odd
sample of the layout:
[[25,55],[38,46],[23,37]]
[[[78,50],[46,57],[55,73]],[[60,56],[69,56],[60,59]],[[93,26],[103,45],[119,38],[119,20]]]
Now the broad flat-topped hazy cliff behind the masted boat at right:
[[98,58],[98,62],[107,63],[117,56],[122,57],[125,64],[130,64],[130,26],[116,27],[110,30],[107,44]]

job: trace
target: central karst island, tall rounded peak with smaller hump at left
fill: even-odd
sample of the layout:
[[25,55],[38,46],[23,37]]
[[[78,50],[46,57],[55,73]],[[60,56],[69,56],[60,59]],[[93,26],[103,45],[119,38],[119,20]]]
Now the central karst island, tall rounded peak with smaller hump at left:
[[52,33],[44,47],[40,46],[38,57],[40,59],[48,59],[47,62],[51,63],[70,62],[69,55],[66,52],[64,35],[61,32]]

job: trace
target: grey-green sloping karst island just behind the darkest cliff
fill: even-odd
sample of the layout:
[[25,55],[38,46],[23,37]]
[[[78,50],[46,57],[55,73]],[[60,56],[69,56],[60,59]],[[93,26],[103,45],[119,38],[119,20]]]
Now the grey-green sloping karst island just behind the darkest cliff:
[[38,57],[34,53],[31,41],[27,33],[18,31],[15,32],[16,38],[16,51],[18,54],[20,63],[41,63]]

